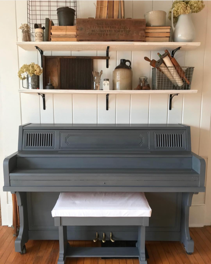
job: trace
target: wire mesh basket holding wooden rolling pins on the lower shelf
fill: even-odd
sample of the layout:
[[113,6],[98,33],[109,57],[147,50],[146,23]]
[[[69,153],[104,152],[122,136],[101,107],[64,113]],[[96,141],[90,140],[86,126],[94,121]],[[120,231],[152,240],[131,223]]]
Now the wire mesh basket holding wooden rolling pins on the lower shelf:
[[152,68],[152,90],[190,90],[194,67]]

